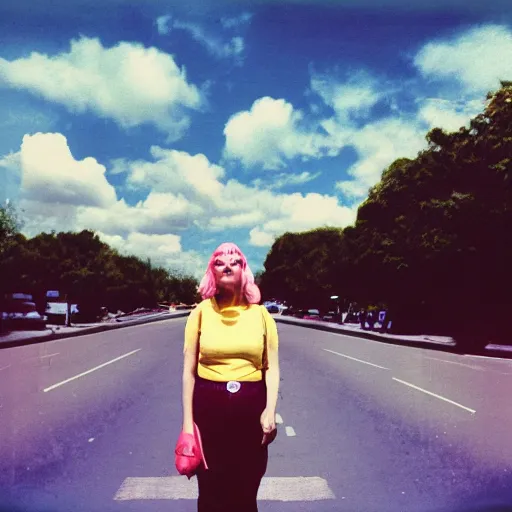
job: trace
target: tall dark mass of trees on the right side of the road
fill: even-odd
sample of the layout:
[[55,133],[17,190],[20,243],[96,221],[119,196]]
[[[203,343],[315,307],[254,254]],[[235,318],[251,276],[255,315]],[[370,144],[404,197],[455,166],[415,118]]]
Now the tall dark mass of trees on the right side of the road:
[[265,297],[327,307],[330,295],[389,308],[401,331],[508,338],[512,305],[512,83],[469,127],[434,128],[416,158],[382,173],[355,225],[285,233]]

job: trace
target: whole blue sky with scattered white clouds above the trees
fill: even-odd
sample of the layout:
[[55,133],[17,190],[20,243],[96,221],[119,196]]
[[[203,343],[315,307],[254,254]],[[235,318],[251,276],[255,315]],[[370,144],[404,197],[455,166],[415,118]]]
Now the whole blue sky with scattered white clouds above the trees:
[[[512,77],[480,0],[0,6],[0,200],[198,277],[236,242],[344,227],[382,171]],[[485,4],[485,5],[484,5]]]

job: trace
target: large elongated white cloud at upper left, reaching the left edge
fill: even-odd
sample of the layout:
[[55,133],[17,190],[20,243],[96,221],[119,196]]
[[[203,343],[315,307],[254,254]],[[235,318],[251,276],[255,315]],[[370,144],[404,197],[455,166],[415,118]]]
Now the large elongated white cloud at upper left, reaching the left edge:
[[68,53],[32,53],[9,62],[0,58],[0,84],[24,89],[64,105],[93,112],[129,128],[152,123],[179,138],[203,99],[174,58],[156,48],[121,42],[104,48],[98,39],[71,41]]

